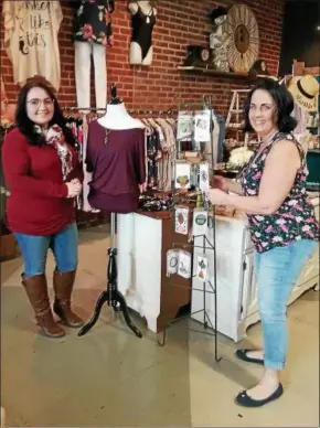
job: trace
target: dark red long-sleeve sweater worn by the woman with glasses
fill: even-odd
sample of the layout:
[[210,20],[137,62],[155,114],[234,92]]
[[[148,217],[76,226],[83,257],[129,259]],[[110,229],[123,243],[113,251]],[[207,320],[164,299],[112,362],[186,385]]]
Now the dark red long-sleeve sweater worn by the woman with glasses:
[[[78,156],[73,147],[73,170],[66,182],[83,181]],[[12,232],[47,236],[75,221],[74,199],[67,199],[61,161],[54,147],[35,147],[18,128],[6,136],[2,168],[10,191],[7,217]]]

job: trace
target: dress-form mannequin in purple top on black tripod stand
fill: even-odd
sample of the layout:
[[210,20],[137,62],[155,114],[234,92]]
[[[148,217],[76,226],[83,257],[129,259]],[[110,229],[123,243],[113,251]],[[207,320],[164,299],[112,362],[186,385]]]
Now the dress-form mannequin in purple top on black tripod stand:
[[[89,136],[92,133],[92,138]],[[89,124],[87,145],[87,169],[93,172],[88,201],[95,208],[111,213],[111,247],[108,249],[108,283],[96,302],[90,320],[79,330],[85,334],[98,320],[105,302],[115,311],[121,310],[127,325],[142,338],[131,322],[126,300],[118,290],[117,248],[115,248],[116,213],[129,214],[138,210],[139,191],[146,182],[145,129],[140,120],[134,119],[111,86],[111,100],[107,113]],[[125,216],[127,217],[127,216]]]

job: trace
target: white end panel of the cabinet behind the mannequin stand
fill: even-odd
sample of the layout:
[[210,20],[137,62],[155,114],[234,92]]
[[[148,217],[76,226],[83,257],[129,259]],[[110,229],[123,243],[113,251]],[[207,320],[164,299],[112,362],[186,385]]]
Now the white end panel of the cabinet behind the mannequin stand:
[[161,297],[161,221],[121,214],[118,228],[118,288],[129,308],[157,332]]

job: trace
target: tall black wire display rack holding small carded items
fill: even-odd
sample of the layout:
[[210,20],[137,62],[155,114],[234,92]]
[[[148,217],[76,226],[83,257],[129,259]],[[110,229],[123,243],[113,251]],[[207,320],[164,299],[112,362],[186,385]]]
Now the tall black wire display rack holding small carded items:
[[[180,103],[179,105],[179,113],[180,111],[185,111],[185,109],[190,109],[198,106],[198,111],[199,111],[199,103],[192,103],[192,104],[183,104]],[[211,174],[213,175],[213,168],[214,168],[214,153],[213,153],[213,108],[212,108],[212,99],[211,97],[203,97],[203,100],[201,103],[201,109],[204,110],[210,110],[210,139],[211,139],[211,152],[206,152],[205,154],[211,156]],[[181,153],[181,140],[177,140],[177,153],[175,153],[175,161],[179,160]],[[209,162],[210,163],[210,162]],[[172,165],[173,167],[173,165]],[[173,323],[180,322],[186,317],[193,317],[195,314],[202,313],[203,319],[202,319],[202,324],[204,327],[204,331],[200,331],[196,329],[192,329],[189,327],[189,330],[198,332],[198,333],[204,333],[211,336],[214,336],[214,357],[216,362],[221,361],[221,357],[218,356],[218,342],[217,342],[217,288],[216,288],[216,233],[215,233],[215,207],[212,206],[209,201],[206,201],[205,197],[205,192],[201,191],[195,191],[193,197],[194,205],[196,205],[196,202],[199,199],[202,199],[204,203],[202,203],[202,207],[204,211],[210,212],[212,215],[207,216],[207,227],[213,229],[213,242],[210,242],[207,236],[205,234],[203,235],[193,235],[191,239],[189,239],[188,244],[181,244],[181,243],[173,243],[172,244],[172,249],[189,249],[191,252],[191,300],[193,299],[193,293],[194,292],[202,292],[203,293],[203,308],[200,310],[196,310],[194,312],[191,311],[188,315],[179,317],[173,320],[170,320],[167,322],[164,325],[162,333],[161,340],[159,339],[159,335],[161,333],[158,333],[157,336],[157,343],[160,346],[164,346],[167,342],[167,330],[170,325]],[[191,202],[191,199],[186,196],[188,202]],[[183,199],[182,199],[183,201]],[[185,201],[186,202],[186,201]],[[179,205],[181,204],[181,200],[179,201]],[[199,207],[199,205],[198,205]],[[175,203],[173,204],[173,211],[175,208]],[[202,238],[202,245],[198,245],[198,240]],[[195,249],[200,248],[202,250],[202,255],[206,255],[207,253],[211,254],[210,260],[212,261],[213,266],[213,272],[212,272],[212,278],[203,280],[203,286],[202,288],[196,288],[193,287],[193,278],[196,277],[196,274],[194,274],[194,254]],[[167,274],[168,278],[168,288],[170,287],[182,287],[185,288],[186,286],[181,286],[178,283],[173,283],[171,281],[171,275]],[[212,295],[214,298],[214,322],[212,322],[211,317],[207,311],[207,295]],[[192,304],[191,304],[192,306]],[[207,331],[207,329],[211,329],[211,331]]]

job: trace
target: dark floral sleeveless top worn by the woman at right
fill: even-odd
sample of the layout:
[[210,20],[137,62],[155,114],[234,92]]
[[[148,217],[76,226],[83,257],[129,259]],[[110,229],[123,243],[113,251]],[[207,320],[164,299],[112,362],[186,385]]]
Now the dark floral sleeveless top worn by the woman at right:
[[282,139],[291,140],[297,146],[301,167],[289,195],[276,213],[271,215],[247,214],[252,240],[258,253],[286,246],[299,239],[319,239],[319,224],[306,190],[308,170],[303,149],[291,133],[277,132],[258,158],[256,158],[258,149],[256,150],[241,174],[244,195],[258,195],[267,156],[273,145]]

